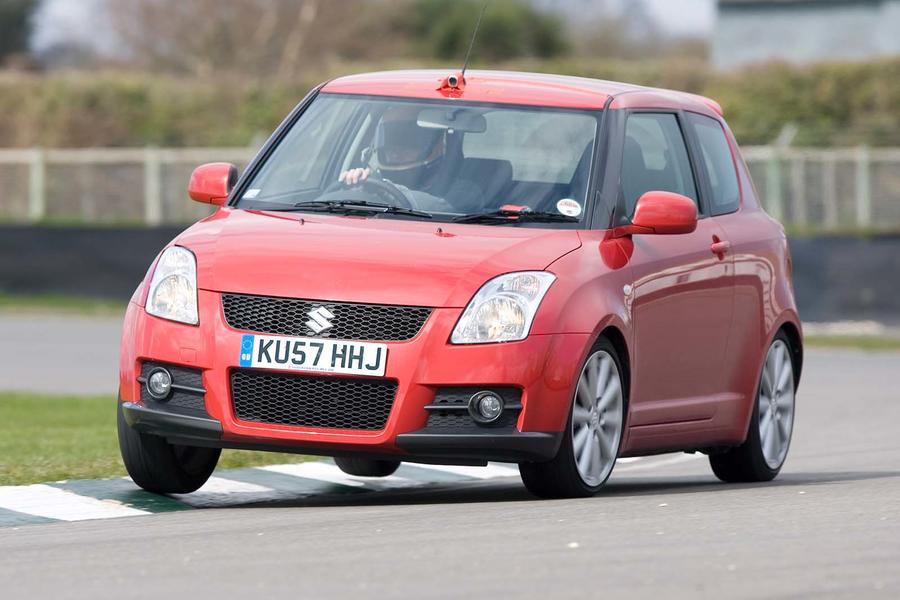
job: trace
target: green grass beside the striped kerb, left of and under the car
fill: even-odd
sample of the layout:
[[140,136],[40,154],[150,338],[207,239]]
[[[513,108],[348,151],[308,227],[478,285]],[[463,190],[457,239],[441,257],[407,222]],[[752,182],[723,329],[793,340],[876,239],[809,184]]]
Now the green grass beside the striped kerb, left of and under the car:
[[[113,397],[0,393],[0,485],[124,476]],[[225,450],[221,468],[308,456]]]

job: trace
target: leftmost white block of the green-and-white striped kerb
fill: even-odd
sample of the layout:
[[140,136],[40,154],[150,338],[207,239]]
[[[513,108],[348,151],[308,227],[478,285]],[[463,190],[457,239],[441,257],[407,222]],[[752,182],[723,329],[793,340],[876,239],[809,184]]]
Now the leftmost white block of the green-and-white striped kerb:
[[151,514],[44,484],[0,487],[0,508],[60,521],[115,519]]

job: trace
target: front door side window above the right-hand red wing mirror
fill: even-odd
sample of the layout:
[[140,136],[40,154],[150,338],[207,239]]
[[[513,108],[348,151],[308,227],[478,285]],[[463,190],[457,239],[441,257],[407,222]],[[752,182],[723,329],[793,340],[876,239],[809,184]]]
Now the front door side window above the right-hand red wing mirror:
[[687,146],[673,114],[634,113],[625,124],[622,194],[626,214],[649,191],[675,192],[697,201]]

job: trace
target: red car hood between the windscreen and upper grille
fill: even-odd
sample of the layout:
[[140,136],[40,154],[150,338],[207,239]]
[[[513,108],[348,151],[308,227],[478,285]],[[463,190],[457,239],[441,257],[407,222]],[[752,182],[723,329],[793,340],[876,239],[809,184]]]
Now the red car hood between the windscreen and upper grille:
[[223,208],[176,244],[201,289],[315,300],[462,307],[488,279],[543,270],[576,230]]

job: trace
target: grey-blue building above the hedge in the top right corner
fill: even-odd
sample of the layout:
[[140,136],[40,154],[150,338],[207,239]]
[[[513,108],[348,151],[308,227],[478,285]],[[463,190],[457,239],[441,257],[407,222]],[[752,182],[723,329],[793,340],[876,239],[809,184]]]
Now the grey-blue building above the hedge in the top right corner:
[[900,54],[900,0],[719,0],[716,67]]

